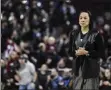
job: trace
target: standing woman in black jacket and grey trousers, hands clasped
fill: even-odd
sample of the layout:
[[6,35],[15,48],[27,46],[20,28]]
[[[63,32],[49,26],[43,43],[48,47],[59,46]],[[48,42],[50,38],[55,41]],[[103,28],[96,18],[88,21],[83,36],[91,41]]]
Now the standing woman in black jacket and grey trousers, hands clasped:
[[73,90],[99,89],[99,58],[105,59],[104,44],[98,31],[92,28],[91,13],[82,11],[80,30],[71,31],[69,54],[73,56]]

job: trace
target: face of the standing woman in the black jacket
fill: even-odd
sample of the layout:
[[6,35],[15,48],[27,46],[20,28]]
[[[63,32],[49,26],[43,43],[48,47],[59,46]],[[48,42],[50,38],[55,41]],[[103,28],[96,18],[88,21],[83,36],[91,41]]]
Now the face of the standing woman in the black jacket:
[[90,22],[90,17],[87,12],[82,12],[79,16],[79,24],[81,27],[87,27]]

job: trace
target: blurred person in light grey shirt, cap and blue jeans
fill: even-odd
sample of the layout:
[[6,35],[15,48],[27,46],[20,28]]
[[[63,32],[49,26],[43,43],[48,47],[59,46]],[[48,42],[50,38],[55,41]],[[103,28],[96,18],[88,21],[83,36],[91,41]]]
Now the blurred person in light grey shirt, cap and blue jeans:
[[19,59],[20,68],[16,71],[15,79],[19,83],[19,90],[35,90],[37,73],[34,65],[28,61],[28,56],[23,54]]

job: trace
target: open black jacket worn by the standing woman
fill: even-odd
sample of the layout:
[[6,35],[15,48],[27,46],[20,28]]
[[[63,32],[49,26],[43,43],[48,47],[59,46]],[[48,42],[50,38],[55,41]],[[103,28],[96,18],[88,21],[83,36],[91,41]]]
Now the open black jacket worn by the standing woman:
[[[78,71],[80,67],[80,62],[78,57],[75,56],[76,44],[75,41],[77,39],[80,30],[73,30],[69,35],[69,55],[74,58],[72,64],[72,72],[75,76],[78,76]],[[85,49],[89,52],[89,55],[85,55],[83,68],[82,68],[82,76],[83,78],[96,78],[99,76],[100,66],[99,59],[102,58],[105,60],[105,47],[103,43],[103,38],[100,33],[96,30],[89,31],[89,37],[87,39],[87,43],[85,45]]]

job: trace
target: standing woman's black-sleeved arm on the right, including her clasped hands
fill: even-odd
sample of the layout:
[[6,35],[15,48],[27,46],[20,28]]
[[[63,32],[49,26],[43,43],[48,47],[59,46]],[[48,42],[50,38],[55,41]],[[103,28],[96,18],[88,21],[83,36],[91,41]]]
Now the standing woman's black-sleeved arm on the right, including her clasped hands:
[[102,36],[98,33],[97,36],[95,37],[95,50],[85,50],[85,48],[79,48],[76,50],[76,55],[87,55],[90,57],[100,57],[104,61],[106,60],[105,58],[105,45],[102,39]]

